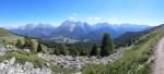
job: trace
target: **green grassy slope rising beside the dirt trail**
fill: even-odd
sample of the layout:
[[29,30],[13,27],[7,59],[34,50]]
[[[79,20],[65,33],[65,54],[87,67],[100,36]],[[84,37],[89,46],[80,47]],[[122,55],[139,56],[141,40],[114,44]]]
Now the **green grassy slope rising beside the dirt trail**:
[[140,37],[140,39],[129,49],[125,50],[121,59],[107,65],[87,65],[83,74],[149,74],[150,59],[154,45],[164,36],[164,25],[151,33]]

